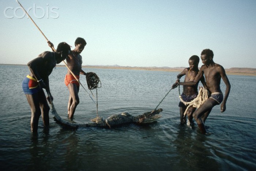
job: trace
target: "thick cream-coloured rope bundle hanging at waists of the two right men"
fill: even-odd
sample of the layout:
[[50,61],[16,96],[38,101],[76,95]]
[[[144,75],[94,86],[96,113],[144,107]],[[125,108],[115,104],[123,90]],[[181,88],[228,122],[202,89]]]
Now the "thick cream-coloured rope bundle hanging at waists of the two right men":
[[[180,85],[179,85],[179,94],[180,94]],[[203,104],[203,102],[205,102],[208,99],[208,90],[203,88],[203,87],[199,87],[199,92],[198,92],[197,97],[194,100],[190,101],[190,102],[185,102],[182,99],[181,94],[180,94],[179,98],[180,98],[180,101],[184,105],[186,105],[186,106],[188,105],[187,109],[184,112],[184,117],[185,117],[186,114],[187,114],[188,109],[191,106],[194,107],[194,108],[199,108]]]

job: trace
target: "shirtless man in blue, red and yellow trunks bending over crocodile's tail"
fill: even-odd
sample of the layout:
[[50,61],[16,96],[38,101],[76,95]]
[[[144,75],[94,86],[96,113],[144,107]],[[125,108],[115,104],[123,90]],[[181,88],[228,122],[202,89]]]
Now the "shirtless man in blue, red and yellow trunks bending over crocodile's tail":
[[[68,57],[70,51],[70,46],[62,42],[58,45],[56,52],[45,51],[37,58],[27,63],[30,74],[23,79],[22,89],[30,105],[30,126],[31,132],[33,133],[37,133],[38,120],[41,114],[44,127],[49,127],[50,107],[47,104],[47,100],[50,102],[53,100],[53,97],[50,93],[48,76],[52,73],[57,63],[60,63]],[[47,100],[43,88],[49,95]]]

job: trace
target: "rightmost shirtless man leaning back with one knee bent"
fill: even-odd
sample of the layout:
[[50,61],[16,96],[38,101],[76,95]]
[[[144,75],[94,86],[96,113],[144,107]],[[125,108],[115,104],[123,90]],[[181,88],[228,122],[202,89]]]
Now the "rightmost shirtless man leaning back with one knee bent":
[[[197,82],[199,82],[203,75],[205,76],[206,86],[210,93],[210,98],[208,98],[193,113],[193,117],[197,122],[200,131],[203,134],[206,134],[206,128],[204,127],[204,123],[206,121],[206,118],[210,114],[212,108],[215,105],[221,104],[221,112],[224,112],[226,110],[227,97],[229,96],[231,88],[225,69],[221,65],[213,61],[213,55],[214,54],[212,50],[204,49],[201,53],[201,59],[204,65],[202,65],[202,67],[200,68],[199,73],[196,75],[194,81],[179,83],[180,85],[193,86],[196,85]],[[224,98],[220,88],[221,78],[226,85]]]

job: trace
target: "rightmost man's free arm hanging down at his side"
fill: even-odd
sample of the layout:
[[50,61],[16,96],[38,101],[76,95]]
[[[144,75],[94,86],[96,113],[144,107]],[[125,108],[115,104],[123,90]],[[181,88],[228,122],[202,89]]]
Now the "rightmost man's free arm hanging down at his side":
[[227,78],[225,69],[222,66],[220,67],[219,73],[221,75],[221,78],[222,78],[223,82],[226,84],[225,96],[224,96],[223,101],[221,103],[221,112],[225,112],[227,97],[229,97],[229,92],[230,92],[230,89],[231,89],[231,85],[230,85],[229,79]]

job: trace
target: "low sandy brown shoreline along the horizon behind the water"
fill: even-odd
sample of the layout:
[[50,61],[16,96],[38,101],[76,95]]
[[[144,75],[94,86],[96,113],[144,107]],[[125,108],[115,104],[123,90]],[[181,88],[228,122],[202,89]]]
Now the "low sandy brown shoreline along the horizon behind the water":
[[[14,64],[0,64],[0,65],[14,65]],[[65,67],[65,65],[57,65],[57,67]],[[83,68],[97,68],[97,69],[125,69],[125,70],[149,70],[149,71],[167,71],[167,72],[181,72],[185,67],[132,67],[132,66],[118,66],[118,65],[85,65]],[[227,75],[251,75],[256,76],[256,68],[238,68],[233,67],[225,69]]]

